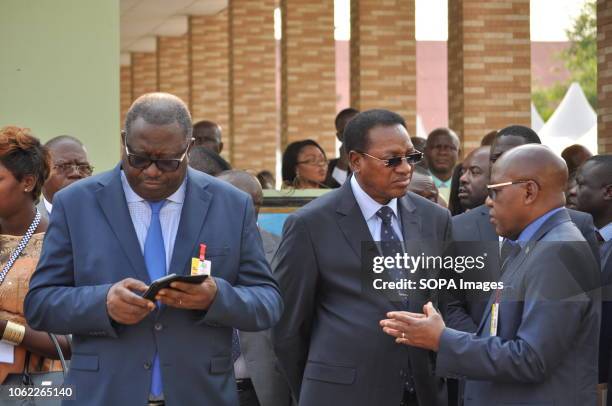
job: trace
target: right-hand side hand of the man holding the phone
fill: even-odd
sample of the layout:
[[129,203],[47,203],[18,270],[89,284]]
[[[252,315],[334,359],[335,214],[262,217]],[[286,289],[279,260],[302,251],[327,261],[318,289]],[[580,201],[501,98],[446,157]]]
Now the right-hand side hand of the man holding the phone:
[[215,278],[209,276],[200,284],[172,282],[170,289],[160,290],[155,299],[179,309],[206,310],[216,295]]

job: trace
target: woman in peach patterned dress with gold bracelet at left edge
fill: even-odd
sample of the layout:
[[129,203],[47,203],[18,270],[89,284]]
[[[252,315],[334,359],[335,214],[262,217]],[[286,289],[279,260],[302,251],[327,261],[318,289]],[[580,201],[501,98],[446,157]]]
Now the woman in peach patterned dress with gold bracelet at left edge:
[[[0,130],[0,384],[17,383],[26,360],[30,372],[61,369],[51,361],[58,354],[49,335],[29,328],[23,315],[47,229],[35,203],[49,176],[49,161],[48,151],[27,129]],[[68,340],[58,339],[68,358]]]

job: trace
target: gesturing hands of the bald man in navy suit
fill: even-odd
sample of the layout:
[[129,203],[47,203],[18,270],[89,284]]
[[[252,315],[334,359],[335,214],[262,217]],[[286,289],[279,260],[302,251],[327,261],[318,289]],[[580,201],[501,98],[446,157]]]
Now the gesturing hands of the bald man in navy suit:
[[380,325],[398,344],[438,351],[444,321],[431,302],[423,306],[423,313],[389,312]]

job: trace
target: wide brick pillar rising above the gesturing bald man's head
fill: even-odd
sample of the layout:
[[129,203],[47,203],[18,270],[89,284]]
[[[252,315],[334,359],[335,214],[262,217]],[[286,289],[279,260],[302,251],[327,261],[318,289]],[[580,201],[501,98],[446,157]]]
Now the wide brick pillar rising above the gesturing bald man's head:
[[529,0],[449,5],[449,123],[463,153],[489,131],[531,125]]

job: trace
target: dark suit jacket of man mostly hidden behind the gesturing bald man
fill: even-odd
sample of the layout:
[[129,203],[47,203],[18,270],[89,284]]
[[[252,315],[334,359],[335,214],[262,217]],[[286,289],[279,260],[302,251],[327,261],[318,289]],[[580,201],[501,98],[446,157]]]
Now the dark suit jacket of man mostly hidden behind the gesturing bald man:
[[[593,251],[599,257],[597,238],[595,237],[595,226],[593,217],[588,213],[566,209],[570,219],[582,233]],[[483,244],[489,258],[499,255],[499,237],[495,233],[495,227],[489,221],[489,208],[486,205],[475,207],[474,209],[453,217],[453,241],[482,241],[490,242]],[[469,247],[460,246],[459,249]],[[490,252],[489,252],[490,251]],[[466,253],[462,253],[466,254]],[[467,253],[469,255],[469,253]],[[497,259],[497,258],[496,258]],[[499,267],[496,262],[483,271],[486,272],[479,277],[480,280],[497,281],[499,279]],[[453,298],[448,303],[447,324],[461,331],[475,332],[478,323],[482,319],[489,294],[485,292],[453,292]]]

